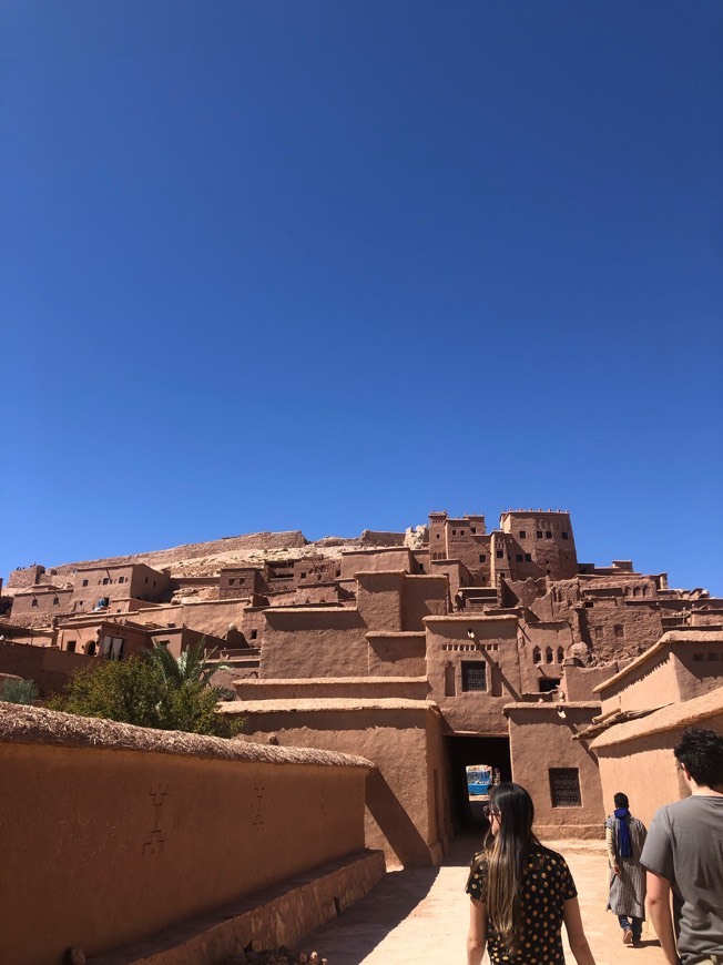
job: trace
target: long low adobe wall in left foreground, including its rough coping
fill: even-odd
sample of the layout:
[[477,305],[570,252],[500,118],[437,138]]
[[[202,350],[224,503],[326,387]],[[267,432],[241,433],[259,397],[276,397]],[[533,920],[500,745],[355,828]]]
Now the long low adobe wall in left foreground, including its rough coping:
[[0,704],[0,961],[99,955],[360,851],[370,766]]

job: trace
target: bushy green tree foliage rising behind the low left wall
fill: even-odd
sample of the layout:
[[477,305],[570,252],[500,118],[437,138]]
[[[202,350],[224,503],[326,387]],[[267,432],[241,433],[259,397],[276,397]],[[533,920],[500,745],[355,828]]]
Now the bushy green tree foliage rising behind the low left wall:
[[67,694],[49,705],[157,730],[233,737],[242,724],[216,713],[218,694],[207,683],[211,673],[198,648],[190,657],[176,661],[165,647],[154,647],[147,656],[102,660],[77,673]]

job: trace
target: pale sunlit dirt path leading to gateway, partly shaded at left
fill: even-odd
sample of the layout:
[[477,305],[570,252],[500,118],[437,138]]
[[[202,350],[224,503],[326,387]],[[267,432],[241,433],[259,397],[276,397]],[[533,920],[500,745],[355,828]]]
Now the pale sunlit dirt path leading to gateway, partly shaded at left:
[[[597,965],[662,965],[662,952],[648,923],[642,945],[629,948],[622,944],[617,917],[605,912],[602,842],[549,842],[549,846],[568,860]],[[390,872],[366,898],[307,936],[304,949],[318,949],[329,965],[464,965],[469,914],[464,890],[477,847],[473,839],[460,837],[441,867]],[[574,962],[567,943],[566,959]]]

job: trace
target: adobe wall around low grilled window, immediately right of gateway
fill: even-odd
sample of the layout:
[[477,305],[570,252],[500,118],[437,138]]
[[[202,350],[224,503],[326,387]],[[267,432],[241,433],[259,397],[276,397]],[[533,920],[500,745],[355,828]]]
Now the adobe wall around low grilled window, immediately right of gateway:
[[[557,704],[508,705],[512,776],[530,792],[534,802],[537,834],[560,837],[602,837],[605,813],[595,755],[573,735],[600,712],[595,703],[566,703],[564,719]],[[551,769],[574,769],[579,774],[580,805],[554,806]]]

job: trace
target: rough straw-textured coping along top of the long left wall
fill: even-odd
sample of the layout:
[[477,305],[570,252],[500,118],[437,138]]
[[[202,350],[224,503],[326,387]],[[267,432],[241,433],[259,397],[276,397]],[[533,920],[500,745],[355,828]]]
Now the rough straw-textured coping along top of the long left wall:
[[264,764],[370,768],[366,758],[303,748],[278,748],[244,740],[159,731],[133,724],[0,701],[0,744],[51,744],[60,748],[147,751]]

